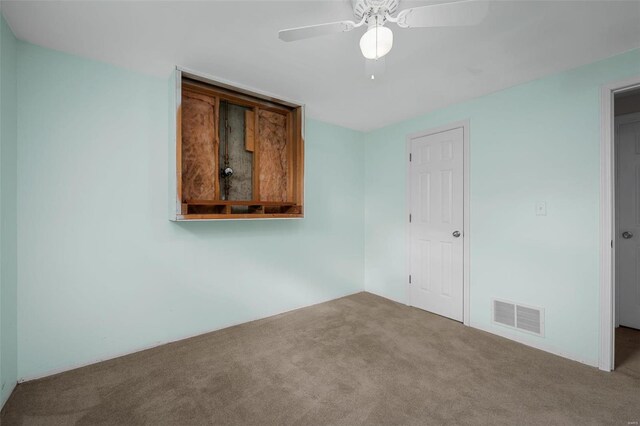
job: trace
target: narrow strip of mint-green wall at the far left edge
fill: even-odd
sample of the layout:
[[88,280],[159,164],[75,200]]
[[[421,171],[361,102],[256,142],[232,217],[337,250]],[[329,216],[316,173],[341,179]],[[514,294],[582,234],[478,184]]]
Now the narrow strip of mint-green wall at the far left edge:
[[16,39],[0,15],[0,408],[16,385]]

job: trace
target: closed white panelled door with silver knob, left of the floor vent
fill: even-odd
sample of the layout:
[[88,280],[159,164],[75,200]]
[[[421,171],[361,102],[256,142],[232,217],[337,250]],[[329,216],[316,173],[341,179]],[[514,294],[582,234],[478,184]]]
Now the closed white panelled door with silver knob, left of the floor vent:
[[410,144],[410,303],[462,321],[464,129]]

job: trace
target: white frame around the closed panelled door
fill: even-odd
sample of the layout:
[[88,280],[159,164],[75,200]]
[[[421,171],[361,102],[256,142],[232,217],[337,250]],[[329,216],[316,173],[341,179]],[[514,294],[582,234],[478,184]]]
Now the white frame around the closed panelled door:
[[406,179],[407,179],[407,184],[406,184],[406,191],[407,191],[407,205],[406,205],[406,215],[405,215],[405,220],[406,220],[406,239],[407,239],[407,264],[406,264],[406,271],[407,271],[407,281],[406,281],[406,285],[405,285],[405,298],[407,300],[407,305],[411,305],[411,288],[409,287],[409,275],[411,273],[411,226],[409,223],[409,214],[411,212],[411,162],[409,161],[409,156],[411,154],[411,140],[416,139],[416,138],[420,138],[423,136],[430,136],[430,135],[435,135],[436,133],[442,133],[442,132],[446,132],[449,130],[454,130],[454,129],[459,129],[462,128],[463,129],[463,150],[464,150],[464,154],[463,154],[463,186],[464,186],[464,194],[463,194],[463,226],[464,226],[464,234],[463,234],[463,256],[462,256],[462,263],[463,263],[463,290],[462,290],[462,303],[463,303],[463,308],[462,308],[462,321],[464,323],[464,325],[470,325],[469,322],[469,246],[470,246],[470,236],[471,236],[471,227],[469,226],[469,208],[470,208],[470,198],[469,198],[469,119],[467,120],[462,120],[462,121],[457,121],[455,123],[451,123],[451,124],[447,124],[445,126],[440,126],[434,129],[429,129],[426,131],[422,131],[422,132],[418,132],[418,133],[412,133],[410,135],[407,136],[407,141],[406,141],[406,164],[407,164],[407,171],[406,171]]

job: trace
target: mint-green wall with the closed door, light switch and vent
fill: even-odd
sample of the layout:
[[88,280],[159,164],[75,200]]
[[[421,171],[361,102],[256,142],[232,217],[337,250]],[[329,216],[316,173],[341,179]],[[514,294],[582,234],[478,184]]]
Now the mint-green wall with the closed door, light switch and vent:
[[[470,119],[471,325],[597,364],[600,90],[634,75],[640,50],[369,133],[366,290],[406,302],[406,136]],[[546,337],[492,325],[492,298],[545,308]]]

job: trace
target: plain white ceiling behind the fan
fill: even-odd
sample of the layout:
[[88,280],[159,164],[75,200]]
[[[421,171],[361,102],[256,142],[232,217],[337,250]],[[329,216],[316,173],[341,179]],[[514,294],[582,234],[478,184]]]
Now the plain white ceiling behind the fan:
[[[400,9],[428,4],[401,1]],[[175,65],[371,130],[640,47],[640,1],[494,1],[477,27],[400,29],[370,80],[364,29],[284,43],[283,28],[352,19],[344,1],[5,1],[16,36],[168,76]]]

